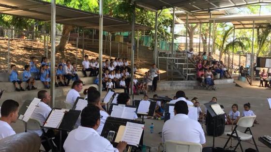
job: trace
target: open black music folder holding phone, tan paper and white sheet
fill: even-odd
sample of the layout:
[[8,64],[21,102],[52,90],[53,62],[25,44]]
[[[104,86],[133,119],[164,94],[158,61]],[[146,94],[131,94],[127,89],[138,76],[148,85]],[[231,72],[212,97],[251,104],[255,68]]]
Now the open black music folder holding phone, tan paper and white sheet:
[[142,121],[107,117],[101,136],[107,138],[114,147],[120,141],[138,147],[143,140],[144,124]]

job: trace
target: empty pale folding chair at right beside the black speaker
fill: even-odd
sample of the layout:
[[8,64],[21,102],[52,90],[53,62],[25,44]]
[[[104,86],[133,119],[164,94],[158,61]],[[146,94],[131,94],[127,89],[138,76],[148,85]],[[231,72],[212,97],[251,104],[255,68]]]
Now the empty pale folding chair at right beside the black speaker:
[[[252,138],[252,140],[253,140],[253,142],[255,144],[256,150],[259,151],[258,147],[256,145],[256,142],[255,142],[255,139],[254,139],[254,137],[252,135],[251,129],[250,129],[250,127],[253,126],[253,122],[254,122],[255,119],[256,119],[256,116],[241,117],[239,119],[239,121],[237,122],[236,126],[234,127],[233,131],[225,133],[227,136],[229,136],[229,138],[228,138],[228,140],[227,140],[227,142],[226,142],[226,144],[224,146],[224,149],[226,148],[227,143],[229,142],[230,138],[233,137],[233,138],[238,140],[238,143],[235,146],[235,149],[233,151],[235,151],[237,149],[237,147],[240,145],[241,151],[244,152],[243,148],[242,148],[242,145],[241,145],[241,140],[249,140],[249,139]],[[239,127],[239,126],[246,128],[244,133],[237,130],[237,127]],[[246,134],[246,132],[248,132],[248,131],[249,131],[250,134]]]

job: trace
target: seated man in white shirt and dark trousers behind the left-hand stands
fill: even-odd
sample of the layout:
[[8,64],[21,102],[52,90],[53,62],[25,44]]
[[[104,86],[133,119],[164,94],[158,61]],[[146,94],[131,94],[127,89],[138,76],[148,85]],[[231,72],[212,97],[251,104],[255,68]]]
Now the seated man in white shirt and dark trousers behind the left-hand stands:
[[[44,122],[46,121],[46,118],[48,117],[48,115],[50,114],[50,112],[52,110],[51,107],[49,106],[50,101],[51,101],[51,96],[47,91],[41,90],[38,92],[38,98],[41,99],[41,101],[39,102],[39,106],[37,106],[34,109],[32,115],[31,115],[31,118],[38,120],[43,125]],[[44,136],[45,137],[54,137],[53,141],[59,148],[60,132],[52,130],[52,129],[44,129],[44,130],[45,130]],[[35,134],[39,135],[40,137],[43,135],[43,131],[41,129],[27,130],[27,132],[35,133]],[[61,136],[62,136],[61,143],[63,146],[63,142],[65,141],[68,134],[67,134],[67,132],[62,131]],[[51,141],[49,141],[49,142],[50,142],[50,145],[54,145]],[[42,145],[45,148],[46,152],[50,151],[51,148],[48,145],[47,141],[42,142]]]

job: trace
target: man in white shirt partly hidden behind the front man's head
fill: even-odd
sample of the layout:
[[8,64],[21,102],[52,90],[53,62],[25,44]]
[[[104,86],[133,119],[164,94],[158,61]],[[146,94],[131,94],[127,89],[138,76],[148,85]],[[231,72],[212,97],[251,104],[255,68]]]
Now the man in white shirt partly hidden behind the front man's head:
[[[107,112],[105,111],[105,109],[102,106],[101,103],[101,93],[99,91],[93,90],[93,91],[88,91],[88,106],[90,105],[94,105],[97,106],[100,109],[100,115],[102,116],[101,120],[100,120],[100,125],[97,126],[96,130],[98,132],[99,135],[101,135],[104,125],[105,125],[105,121],[107,119],[107,117],[109,117],[109,115],[107,114]],[[82,117],[81,117],[82,120]]]

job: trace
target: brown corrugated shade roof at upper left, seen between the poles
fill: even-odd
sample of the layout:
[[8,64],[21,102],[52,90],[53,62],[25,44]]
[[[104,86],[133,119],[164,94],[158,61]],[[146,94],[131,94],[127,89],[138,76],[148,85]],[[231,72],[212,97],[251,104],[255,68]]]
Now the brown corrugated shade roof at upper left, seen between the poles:
[[[0,14],[23,16],[41,21],[51,20],[51,3],[41,0],[0,0]],[[103,30],[109,32],[130,31],[132,25],[121,19],[104,15]],[[77,27],[99,29],[99,15],[56,5],[56,22]],[[135,30],[151,28],[135,24]]]

